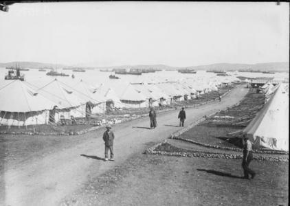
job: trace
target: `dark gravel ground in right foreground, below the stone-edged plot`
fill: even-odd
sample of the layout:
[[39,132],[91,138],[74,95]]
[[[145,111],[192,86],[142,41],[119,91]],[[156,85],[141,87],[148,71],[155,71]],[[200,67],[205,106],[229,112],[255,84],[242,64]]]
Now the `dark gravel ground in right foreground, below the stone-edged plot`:
[[[97,161],[97,160],[96,160]],[[61,205],[287,205],[289,163],[134,155]]]

